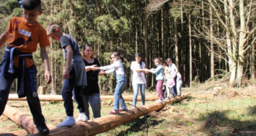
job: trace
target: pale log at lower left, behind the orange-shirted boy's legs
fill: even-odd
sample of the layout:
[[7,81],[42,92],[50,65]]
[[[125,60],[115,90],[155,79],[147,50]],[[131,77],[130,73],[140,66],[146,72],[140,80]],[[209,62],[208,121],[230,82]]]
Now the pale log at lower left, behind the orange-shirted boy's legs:
[[[33,118],[30,114],[26,114],[24,112],[20,112],[11,106],[6,105],[3,114],[7,116],[11,121],[17,123],[23,129],[28,131],[30,134],[38,133],[36,129],[36,125],[34,125]],[[47,127],[52,130],[56,129],[53,125],[47,125]]]

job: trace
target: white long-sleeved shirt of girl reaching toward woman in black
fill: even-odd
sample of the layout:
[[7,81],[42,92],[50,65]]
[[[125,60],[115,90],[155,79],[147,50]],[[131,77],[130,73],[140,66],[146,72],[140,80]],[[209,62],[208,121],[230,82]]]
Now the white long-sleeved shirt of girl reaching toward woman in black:
[[104,67],[100,67],[100,70],[104,70],[106,74],[116,72],[117,75],[124,75],[125,69],[123,68],[123,63],[121,59],[115,61],[111,65],[106,65]]

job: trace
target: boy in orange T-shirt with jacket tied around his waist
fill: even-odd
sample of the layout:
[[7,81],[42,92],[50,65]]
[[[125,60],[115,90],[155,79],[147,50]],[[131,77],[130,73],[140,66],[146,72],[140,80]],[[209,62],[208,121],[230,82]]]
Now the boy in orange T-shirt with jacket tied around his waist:
[[[42,14],[40,0],[24,0],[22,3],[23,18],[11,18],[5,32],[0,36],[0,48],[8,40],[8,46],[0,63],[0,116],[3,114],[13,79],[18,78],[18,96],[26,97],[38,133],[47,134],[44,116],[36,92],[36,66],[32,53],[40,44],[40,55],[44,63],[44,78],[51,83],[48,55],[46,46],[50,45],[44,28],[37,22]],[[11,34],[11,37],[9,35]]]

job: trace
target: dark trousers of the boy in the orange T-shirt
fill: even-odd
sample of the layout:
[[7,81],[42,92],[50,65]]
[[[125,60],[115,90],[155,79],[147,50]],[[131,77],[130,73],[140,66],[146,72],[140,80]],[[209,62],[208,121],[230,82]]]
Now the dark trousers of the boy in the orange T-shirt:
[[[11,76],[5,77],[3,75],[4,65],[0,65],[0,116],[3,114],[3,110],[5,110],[5,105],[7,104],[9,90],[11,88],[11,84],[13,83],[13,79],[18,77],[18,69],[14,68],[14,73]],[[32,65],[25,69],[24,73],[24,90],[26,94],[26,98],[28,101],[28,106],[30,107],[30,112],[32,113],[34,124],[42,125],[44,124],[44,116],[42,115],[42,110],[40,106],[40,101],[37,95],[36,90],[36,66]]]

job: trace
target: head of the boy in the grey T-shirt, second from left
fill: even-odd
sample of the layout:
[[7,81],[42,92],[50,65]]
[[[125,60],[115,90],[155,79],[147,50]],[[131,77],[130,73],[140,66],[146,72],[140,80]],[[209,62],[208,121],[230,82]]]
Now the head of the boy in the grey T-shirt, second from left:
[[63,36],[63,32],[61,31],[61,27],[57,24],[49,24],[46,28],[46,33],[53,40],[61,40],[61,36]]

